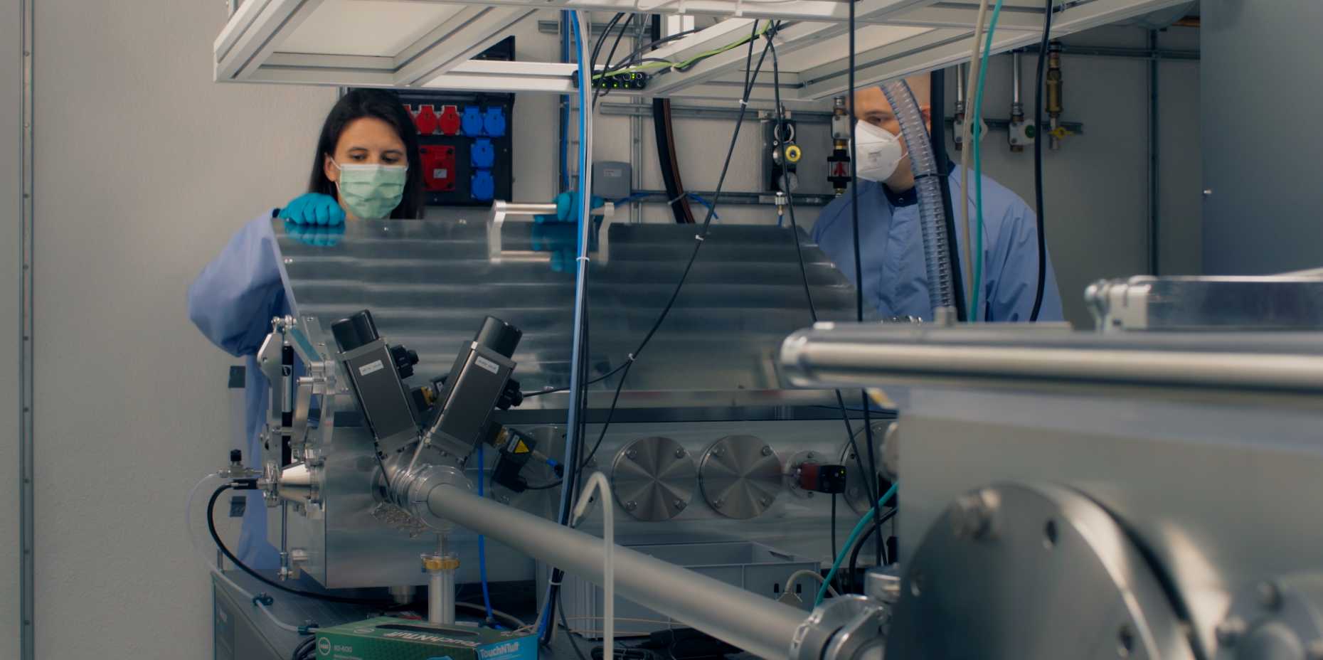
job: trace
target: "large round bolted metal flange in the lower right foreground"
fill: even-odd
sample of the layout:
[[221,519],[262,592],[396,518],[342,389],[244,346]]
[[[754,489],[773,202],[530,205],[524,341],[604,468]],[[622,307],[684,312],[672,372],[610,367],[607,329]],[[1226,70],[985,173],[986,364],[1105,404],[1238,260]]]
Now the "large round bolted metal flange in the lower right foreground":
[[1126,532],[1054,485],[960,497],[906,567],[885,657],[1191,660],[1187,627]]

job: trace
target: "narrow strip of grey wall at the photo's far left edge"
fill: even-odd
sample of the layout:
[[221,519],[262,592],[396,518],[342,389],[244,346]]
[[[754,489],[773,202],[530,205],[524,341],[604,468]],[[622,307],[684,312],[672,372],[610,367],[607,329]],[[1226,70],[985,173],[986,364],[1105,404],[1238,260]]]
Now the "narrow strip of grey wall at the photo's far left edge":
[[19,3],[0,4],[0,657],[19,655]]

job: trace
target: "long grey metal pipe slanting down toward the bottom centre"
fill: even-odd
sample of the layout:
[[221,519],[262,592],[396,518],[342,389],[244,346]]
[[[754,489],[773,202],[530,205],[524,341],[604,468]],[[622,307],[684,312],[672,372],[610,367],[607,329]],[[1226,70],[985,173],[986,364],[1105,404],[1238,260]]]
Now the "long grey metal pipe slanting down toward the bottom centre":
[[[602,540],[452,485],[427,495],[434,516],[603,582]],[[767,659],[785,659],[804,612],[628,548],[615,548],[615,590],[635,603]]]

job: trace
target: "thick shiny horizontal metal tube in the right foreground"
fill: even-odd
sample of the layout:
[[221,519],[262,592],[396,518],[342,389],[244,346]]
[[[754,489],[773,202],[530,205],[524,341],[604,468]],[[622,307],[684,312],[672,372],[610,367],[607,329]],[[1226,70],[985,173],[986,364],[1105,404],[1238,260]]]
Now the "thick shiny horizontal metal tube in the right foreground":
[[1323,393],[1316,340],[1283,335],[1073,335],[819,324],[782,344],[796,388],[884,384],[1025,386],[1076,382],[1224,392]]

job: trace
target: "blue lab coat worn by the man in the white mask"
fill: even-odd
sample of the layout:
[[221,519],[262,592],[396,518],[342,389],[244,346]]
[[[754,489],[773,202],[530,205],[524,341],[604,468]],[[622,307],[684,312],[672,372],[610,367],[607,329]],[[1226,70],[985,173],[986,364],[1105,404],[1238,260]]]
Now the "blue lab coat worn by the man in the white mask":
[[[963,259],[964,209],[959,200],[966,193],[960,184],[960,172],[951,172],[957,245]],[[880,183],[864,180],[856,185],[865,304],[871,302],[884,319],[916,316],[931,320],[933,307],[927,300],[923,235],[916,190],[896,194]],[[972,210],[974,190],[967,194],[968,209]],[[988,321],[1027,321],[1039,287],[1039,233],[1033,209],[1011,189],[984,176],[983,222],[980,317]],[[836,262],[836,267],[855,282],[849,190],[822,210],[814,225],[812,238]],[[1061,294],[1057,291],[1050,258],[1039,320],[1062,320]]]

